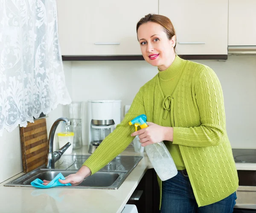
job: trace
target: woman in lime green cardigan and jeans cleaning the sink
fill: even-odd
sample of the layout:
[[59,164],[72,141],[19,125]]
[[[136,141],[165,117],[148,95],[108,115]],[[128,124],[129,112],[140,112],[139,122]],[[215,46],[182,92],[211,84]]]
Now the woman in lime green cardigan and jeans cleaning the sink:
[[[179,171],[167,181],[158,178],[162,213],[233,212],[238,176],[217,76],[175,54],[175,29],[165,16],[143,17],[137,38],[144,59],[158,67],[158,74],[140,88],[122,123],[80,170],[60,182],[81,183],[139,135],[143,147],[165,141]],[[128,122],[140,114],[147,115],[149,127],[133,132]]]

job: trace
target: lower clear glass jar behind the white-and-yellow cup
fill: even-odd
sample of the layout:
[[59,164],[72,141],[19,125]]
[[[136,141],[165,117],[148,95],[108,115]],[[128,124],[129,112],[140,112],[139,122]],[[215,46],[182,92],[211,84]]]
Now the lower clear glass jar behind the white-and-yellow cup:
[[74,144],[73,149],[80,149],[82,147],[82,120],[72,118],[71,119],[71,128],[74,132]]

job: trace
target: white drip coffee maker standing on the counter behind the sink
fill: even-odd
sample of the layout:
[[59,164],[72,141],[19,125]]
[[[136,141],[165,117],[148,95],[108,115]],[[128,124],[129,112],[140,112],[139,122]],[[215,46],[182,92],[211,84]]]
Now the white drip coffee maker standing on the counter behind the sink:
[[88,101],[88,136],[89,153],[93,153],[120,124],[121,101],[119,100],[90,100]]

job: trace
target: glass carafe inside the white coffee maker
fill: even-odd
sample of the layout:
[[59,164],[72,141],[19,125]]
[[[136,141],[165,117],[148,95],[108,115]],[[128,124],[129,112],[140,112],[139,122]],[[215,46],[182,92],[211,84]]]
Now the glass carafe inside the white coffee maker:
[[101,143],[111,133],[111,126],[91,125],[91,138],[93,143]]

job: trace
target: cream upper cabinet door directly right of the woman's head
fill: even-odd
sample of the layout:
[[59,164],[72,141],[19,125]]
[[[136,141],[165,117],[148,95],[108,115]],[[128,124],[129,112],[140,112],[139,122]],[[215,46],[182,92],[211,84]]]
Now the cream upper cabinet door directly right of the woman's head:
[[227,55],[228,0],[159,0],[170,18],[178,55]]

